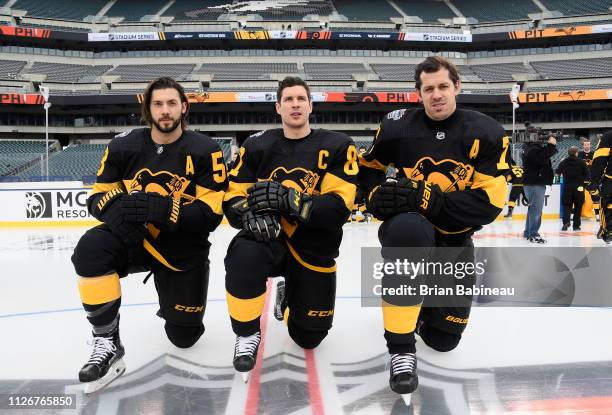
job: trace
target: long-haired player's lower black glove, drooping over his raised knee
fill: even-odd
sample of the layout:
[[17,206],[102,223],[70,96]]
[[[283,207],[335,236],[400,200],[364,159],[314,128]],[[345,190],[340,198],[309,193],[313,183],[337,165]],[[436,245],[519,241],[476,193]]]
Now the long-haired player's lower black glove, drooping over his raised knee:
[[117,236],[128,248],[142,246],[147,228],[138,223],[125,220],[121,211],[121,200],[126,194],[115,189],[107,192],[92,206],[91,214],[104,222],[113,235]]

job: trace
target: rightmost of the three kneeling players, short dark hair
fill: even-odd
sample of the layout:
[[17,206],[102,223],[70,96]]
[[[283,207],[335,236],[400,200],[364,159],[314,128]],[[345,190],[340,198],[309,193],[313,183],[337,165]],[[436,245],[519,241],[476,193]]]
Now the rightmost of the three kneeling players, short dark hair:
[[[461,81],[446,59],[425,59],[415,69],[415,81],[423,108],[387,114],[360,158],[360,185],[372,189],[367,193],[368,211],[384,221],[378,231],[382,257],[386,265],[397,260],[473,262],[472,235],[494,221],[506,201],[510,141],[497,121],[457,108]],[[397,178],[385,181],[389,165],[398,169]],[[415,333],[434,350],[453,350],[468,324],[471,296],[449,295],[442,301],[418,295],[423,285],[414,283],[420,277],[403,277],[400,271],[385,273],[382,314],[389,385],[408,395],[418,386]],[[425,277],[453,291],[455,285],[471,288],[475,279]],[[417,295],[384,294],[388,287],[403,284]]]

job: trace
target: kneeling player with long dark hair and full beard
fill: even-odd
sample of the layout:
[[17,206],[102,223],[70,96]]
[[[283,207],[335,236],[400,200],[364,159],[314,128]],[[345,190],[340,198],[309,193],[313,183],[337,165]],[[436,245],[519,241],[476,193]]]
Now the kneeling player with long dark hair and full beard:
[[91,357],[79,372],[86,393],[125,371],[120,278],[153,274],[157,314],[175,346],[191,347],[204,333],[208,235],[223,217],[227,175],[219,145],[187,130],[188,110],[175,80],[151,82],[142,103],[149,128],[116,136],[102,157],[87,206],[103,223],[85,232],[72,256],[93,331]]

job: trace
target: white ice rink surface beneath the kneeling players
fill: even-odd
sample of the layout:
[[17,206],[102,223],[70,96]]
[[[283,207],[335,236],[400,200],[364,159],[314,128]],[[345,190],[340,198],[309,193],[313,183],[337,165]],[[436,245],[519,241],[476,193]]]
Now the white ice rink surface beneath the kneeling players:
[[[597,225],[561,232],[548,220],[541,233],[549,246],[604,246]],[[522,226],[497,221],[474,242],[534,246]],[[249,383],[233,370],[223,258],[235,230],[221,225],[211,236],[204,336],[191,349],[173,346],[155,316],[154,284],[142,284],[145,274],[122,279],[127,371],[89,396],[77,373],[91,334],[70,262],[86,228],[0,229],[0,394],[73,394],[77,407],[0,414],[612,414],[612,309],[603,307],[475,306],[457,349],[417,342],[420,386],[407,408],[388,387],[381,311],[360,301],[359,252],[378,246],[378,225],[344,229],[334,327],[314,351],[293,344],[267,303]]]

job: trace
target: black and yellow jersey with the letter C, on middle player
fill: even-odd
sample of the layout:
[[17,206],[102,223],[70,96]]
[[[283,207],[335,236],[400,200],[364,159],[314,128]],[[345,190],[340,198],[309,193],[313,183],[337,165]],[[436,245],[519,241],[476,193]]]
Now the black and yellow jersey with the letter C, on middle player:
[[274,180],[313,195],[308,223],[281,218],[289,250],[298,261],[338,256],[342,225],[355,200],[357,150],[345,134],[315,129],[301,139],[288,139],[282,129],[249,137],[229,173],[225,205],[245,197],[253,183]]

